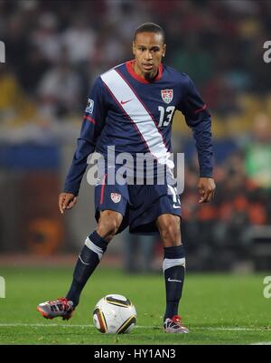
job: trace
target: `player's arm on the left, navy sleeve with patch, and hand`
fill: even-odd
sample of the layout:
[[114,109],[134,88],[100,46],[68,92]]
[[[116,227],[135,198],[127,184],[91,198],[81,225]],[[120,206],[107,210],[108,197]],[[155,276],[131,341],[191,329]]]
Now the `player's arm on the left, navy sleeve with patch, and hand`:
[[77,148],[65,180],[64,191],[59,196],[61,214],[65,209],[70,209],[76,204],[81,180],[88,166],[87,160],[96,148],[98,137],[105,125],[106,113],[105,86],[98,77],[89,95]]

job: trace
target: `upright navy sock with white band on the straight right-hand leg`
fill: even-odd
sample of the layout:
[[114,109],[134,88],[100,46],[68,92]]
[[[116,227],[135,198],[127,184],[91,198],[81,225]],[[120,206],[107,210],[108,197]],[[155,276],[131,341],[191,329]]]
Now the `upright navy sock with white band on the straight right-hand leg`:
[[166,293],[166,310],[164,320],[178,315],[179,302],[185,272],[185,252],[183,245],[164,247],[164,282]]

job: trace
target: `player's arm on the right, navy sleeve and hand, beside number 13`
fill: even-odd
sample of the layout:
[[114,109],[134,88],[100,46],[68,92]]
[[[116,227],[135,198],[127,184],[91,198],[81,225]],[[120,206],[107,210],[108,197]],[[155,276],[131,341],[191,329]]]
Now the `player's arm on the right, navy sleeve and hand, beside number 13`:
[[200,165],[199,203],[206,203],[213,198],[216,188],[213,179],[211,118],[206,104],[201,100],[199,91],[189,77],[186,90],[178,109],[182,111],[187,125],[192,128]]

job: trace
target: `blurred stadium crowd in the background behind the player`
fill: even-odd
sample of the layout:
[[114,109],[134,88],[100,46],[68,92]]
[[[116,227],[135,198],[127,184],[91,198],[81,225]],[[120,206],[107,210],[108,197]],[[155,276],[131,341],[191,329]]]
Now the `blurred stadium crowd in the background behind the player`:
[[133,33],[145,22],[164,27],[165,62],[192,77],[212,114],[217,193],[210,205],[197,205],[192,134],[178,113],[173,143],[186,155],[183,234],[193,267],[227,268],[251,258],[257,237],[271,246],[268,1],[1,0],[0,179],[14,165],[6,161],[11,146],[38,152],[75,144],[92,81],[132,58]]

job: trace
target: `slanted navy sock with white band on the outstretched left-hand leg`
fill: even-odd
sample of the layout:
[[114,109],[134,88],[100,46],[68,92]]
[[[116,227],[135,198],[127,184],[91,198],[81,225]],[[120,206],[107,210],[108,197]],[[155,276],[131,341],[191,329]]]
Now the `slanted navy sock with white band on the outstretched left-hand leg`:
[[79,304],[81,291],[88,282],[92,272],[98,266],[103,253],[106,251],[107,242],[96,231],[89,234],[82,251],[79,253],[79,259],[73,272],[70,291],[66,295],[66,298],[73,302],[74,307]]

